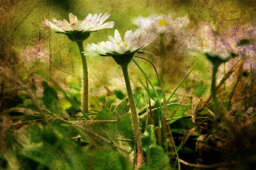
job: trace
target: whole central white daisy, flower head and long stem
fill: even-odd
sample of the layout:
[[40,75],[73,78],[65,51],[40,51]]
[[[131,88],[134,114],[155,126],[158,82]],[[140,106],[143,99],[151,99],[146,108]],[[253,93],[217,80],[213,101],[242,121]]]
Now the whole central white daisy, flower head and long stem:
[[109,41],[102,41],[98,44],[88,44],[86,49],[88,52],[83,52],[86,56],[111,56],[122,67],[125,85],[127,89],[128,99],[131,108],[132,122],[134,126],[135,142],[137,146],[137,169],[143,164],[143,146],[141,141],[140,126],[136,105],[131,89],[131,82],[128,74],[128,64],[134,57],[134,54],[140,49],[147,46],[152,42],[156,35],[153,33],[145,32],[144,30],[137,29],[136,31],[126,31],[124,39],[120,36],[119,32],[115,30],[114,37],[108,36]]

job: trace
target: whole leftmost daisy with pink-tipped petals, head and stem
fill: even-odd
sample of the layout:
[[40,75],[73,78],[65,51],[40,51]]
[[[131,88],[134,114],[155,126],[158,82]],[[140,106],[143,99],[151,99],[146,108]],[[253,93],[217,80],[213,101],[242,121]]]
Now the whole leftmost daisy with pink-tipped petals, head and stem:
[[[83,66],[83,94],[82,96],[82,107],[84,112],[89,111],[89,105],[88,105],[88,68],[87,68],[87,62],[86,57],[81,53],[84,51],[83,47],[83,41],[86,40],[90,36],[91,31],[97,31],[100,29],[105,28],[113,28],[114,22],[110,21],[107,23],[104,23],[108,18],[110,17],[110,14],[105,13],[102,16],[102,13],[98,14],[88,14],[87,17],[84,18],[84,20],[78,20],[76,15],[73,15],[72,13],[69,14],[69,20],[70,23],[67,22],[67,20],[56,20],[55,18],[51,18],[53,23],[49,22],[47,19],[44,18],[43,25],[45,27],[48,27],[57,33],[66,34],[67,37],[76,42],[79,51],[81,54],[81,63]],[[84,116],[87,117],[87,115],[84,114]]]

